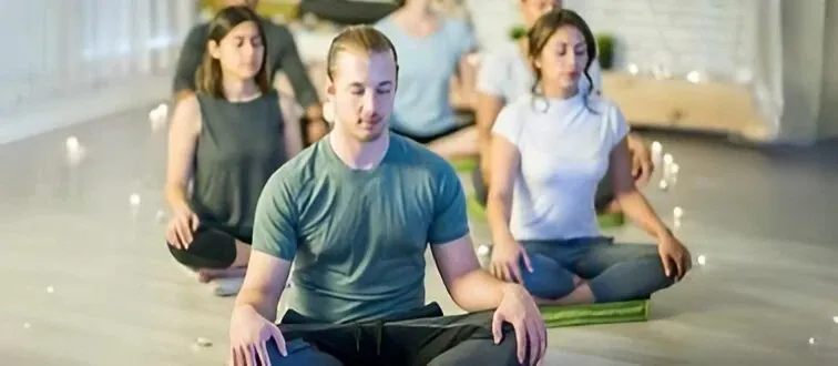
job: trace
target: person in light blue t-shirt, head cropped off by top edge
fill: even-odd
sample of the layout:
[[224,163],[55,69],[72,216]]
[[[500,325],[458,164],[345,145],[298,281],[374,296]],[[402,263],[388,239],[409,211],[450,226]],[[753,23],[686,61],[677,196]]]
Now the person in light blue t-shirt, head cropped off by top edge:
[[451,87],[471,108],[474,68],[467,57],[476,48],[474,35],[464,21],[430,7],[431,0],[407,0],[376,24],[402,55],[390,129],[444,159],[472,157],[477,155],[474,121],[454,112]]

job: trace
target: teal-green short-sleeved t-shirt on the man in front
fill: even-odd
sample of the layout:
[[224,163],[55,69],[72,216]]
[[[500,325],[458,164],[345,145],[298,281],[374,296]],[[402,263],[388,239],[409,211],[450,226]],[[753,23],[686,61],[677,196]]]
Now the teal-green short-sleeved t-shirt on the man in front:
[[451,164],[390,135],[381,163],[349,169],[324,138],[276,171],[256,205],[253,250],[294,261],[290,307],[326,323],[425,305],[425,251],[466,236]]

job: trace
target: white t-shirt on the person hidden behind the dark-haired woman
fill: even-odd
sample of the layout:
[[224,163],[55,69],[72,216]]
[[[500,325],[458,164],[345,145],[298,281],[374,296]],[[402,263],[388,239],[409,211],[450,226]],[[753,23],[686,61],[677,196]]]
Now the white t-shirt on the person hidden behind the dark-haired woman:
[[[594,60],[587,69],[594,85],[594,94],[602,92],[602,69],[600,61]],[[482,54],[480,69],[477,74],[477,90],[492,96],[501,98],[509,103],[521,95],[529,94],[535,83],[530,62],[515,42],[507,42],[502,47]],[[591,83],[582,75],[579,79],[580,90],[589,92]]]

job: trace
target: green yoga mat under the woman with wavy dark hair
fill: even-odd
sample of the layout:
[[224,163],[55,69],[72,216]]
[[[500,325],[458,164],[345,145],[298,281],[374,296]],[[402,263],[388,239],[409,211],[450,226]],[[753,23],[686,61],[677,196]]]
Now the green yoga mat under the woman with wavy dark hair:
[[613,324],[648,321],[651,301],[638,299],[624,303],[540,306],[548,328],[579,325]]

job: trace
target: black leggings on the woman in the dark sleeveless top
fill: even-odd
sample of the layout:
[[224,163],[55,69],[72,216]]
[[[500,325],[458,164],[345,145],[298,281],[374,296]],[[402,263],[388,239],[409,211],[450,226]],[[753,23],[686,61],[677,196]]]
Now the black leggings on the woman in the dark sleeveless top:
[[236,237],[226,231],[201,225],[192,233],[187,248],[168,243],[166,246],[175,261],[187,267],[224,270],[236,261],[236,240],[251,244],[249,237]]

